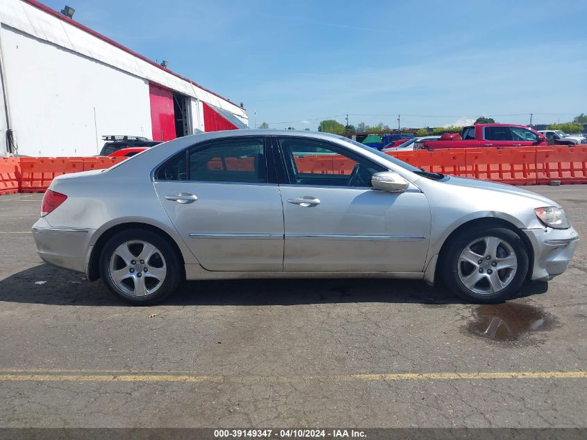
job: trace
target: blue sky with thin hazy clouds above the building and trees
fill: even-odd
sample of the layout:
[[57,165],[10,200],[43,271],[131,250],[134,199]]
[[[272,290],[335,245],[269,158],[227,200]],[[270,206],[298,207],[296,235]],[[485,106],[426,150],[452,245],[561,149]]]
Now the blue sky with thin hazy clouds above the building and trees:
[[[197,83],[251,126],[441,126],[587,113],[587,2],[45,0]],[[344,122],[344,117],[335,119]],[[287,122],[279,124],[279,122]]]

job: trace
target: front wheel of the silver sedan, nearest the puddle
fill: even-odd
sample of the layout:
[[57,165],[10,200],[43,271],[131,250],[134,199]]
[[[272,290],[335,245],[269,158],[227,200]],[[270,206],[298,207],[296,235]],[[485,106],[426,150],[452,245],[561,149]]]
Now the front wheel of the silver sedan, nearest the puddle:
[[511,229],[477,229],[458,234],[449,243],[441,275],[458,298],[491,304],[518,293],[526,279],[528,262],[526,245]]

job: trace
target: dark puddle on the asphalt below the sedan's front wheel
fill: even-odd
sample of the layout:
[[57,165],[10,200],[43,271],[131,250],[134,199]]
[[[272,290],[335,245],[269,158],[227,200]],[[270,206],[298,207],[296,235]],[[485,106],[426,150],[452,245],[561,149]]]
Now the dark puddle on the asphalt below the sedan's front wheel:
[[535,330],[547,330],[554,318],[537,307],[506,302],[483,304],[474,309],[475,320],[467,325],[467,332],[492,341],[517,341]]

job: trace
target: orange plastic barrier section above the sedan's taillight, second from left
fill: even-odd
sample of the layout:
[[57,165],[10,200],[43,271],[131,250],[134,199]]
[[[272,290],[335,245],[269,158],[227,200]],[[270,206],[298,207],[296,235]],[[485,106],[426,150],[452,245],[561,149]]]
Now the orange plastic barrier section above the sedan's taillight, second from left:
[[20,166],[22,192],[44,193],[55,177],[83,171],[83,160],[81,157],[22,157]]

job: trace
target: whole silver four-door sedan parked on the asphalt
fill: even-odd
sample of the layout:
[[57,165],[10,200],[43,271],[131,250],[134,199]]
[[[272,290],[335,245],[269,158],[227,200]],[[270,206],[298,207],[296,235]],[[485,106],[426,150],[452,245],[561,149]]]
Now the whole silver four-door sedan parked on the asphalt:
[[384,277],[473,302],[563,273],[577,232],[555,202],[424,172],[324,133],[219,131],[57,177],[33,226],[49,264],[133,304],[184,279]]

